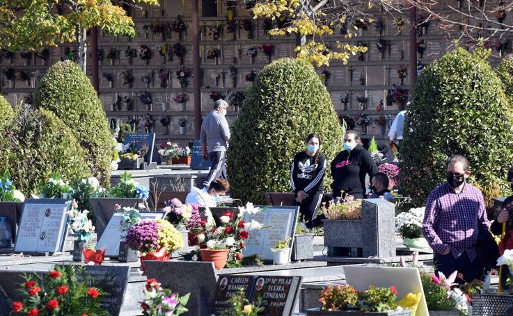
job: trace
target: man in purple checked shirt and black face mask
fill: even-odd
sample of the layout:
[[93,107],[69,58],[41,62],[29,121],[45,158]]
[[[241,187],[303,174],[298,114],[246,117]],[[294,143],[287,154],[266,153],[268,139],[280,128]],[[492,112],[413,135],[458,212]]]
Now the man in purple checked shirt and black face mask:
[[427,197],[423,235],[434,252],[436,271],[463,274],[457,283],[482,278],[478,235],[489,233],[481,191],[466,183],[468,160],[454,155],[447,162],[447,181]]

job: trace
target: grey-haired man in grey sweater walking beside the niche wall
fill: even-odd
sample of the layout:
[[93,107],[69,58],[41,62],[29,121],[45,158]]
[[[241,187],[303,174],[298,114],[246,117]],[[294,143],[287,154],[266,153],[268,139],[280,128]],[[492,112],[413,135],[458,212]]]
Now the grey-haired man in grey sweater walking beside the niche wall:
[[201,124],[201,148],[203,159],[210,159],[210,172],[205,178],[205,188],[208,188],[215,178],[226,178],[226,150],[230,141],[230,128],[226,121],[228,103],[223,99],[214,102],[214,109]]

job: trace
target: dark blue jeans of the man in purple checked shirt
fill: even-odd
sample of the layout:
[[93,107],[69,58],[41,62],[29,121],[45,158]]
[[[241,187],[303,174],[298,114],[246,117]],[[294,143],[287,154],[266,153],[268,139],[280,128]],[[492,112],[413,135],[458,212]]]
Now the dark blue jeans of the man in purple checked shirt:
[[458,258],[452,256],[449,253],[445,256],[440,253],[434,254],[434,264],[436,265],[435,271],[442,272],[446,277],[449,277],[452,272],[457,270],[458,274],[463,274],[464,280],[456,278],[456,283],[463,284],[465,282],[471,282],[475,278],[482,278],[482,267],[479,263],[478,258],[475,258],[473,262],[468,259],[466,251],[461,253]]

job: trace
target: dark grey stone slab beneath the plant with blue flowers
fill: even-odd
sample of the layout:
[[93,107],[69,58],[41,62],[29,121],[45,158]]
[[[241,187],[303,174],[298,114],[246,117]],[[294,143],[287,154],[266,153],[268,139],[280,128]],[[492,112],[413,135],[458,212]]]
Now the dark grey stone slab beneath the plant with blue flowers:
[[89,203],[91,205],[91,210],[95,213],[96,216],[96,233],[98,235],[98,239],[102,237],[102,233],[105,230],[107,224],[109,224],[109,220],[111,220],[112,215],[116,210],[114,206],[119,204],[121,208],[137,206],[139,203],[143,203],[144,199],[137,199],[135,197],[98,197],[98,198],[90,198]]

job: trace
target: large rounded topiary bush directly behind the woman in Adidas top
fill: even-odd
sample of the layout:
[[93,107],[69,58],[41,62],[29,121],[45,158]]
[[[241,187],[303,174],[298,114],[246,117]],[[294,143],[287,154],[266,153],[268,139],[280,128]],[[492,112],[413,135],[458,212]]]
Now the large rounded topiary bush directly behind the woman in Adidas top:
[[[246,90],[232,128],[228,178],[233,197],[265,203],[265,192],[291,192],[290,166],[305,150],[310,133],[319,133],[328,161],[342,149],[342,128],[329,92],[313,66],[283,58],[267,65]],[[329,188],[329,172],[324,185]],[[327,180],[327,181],[326,181]]]

